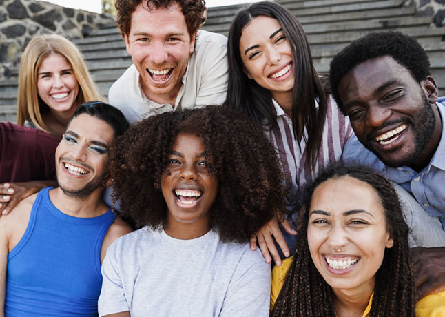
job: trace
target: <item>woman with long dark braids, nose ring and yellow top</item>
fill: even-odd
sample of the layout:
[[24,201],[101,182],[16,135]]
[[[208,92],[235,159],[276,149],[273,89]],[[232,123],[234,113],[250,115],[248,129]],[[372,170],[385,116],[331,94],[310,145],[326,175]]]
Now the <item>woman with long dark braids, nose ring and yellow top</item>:
[[306,189],[295,256],[273,269],[271,316],[445,316],[445,292],[415,305],[408,230],[383,176],[328,167]]

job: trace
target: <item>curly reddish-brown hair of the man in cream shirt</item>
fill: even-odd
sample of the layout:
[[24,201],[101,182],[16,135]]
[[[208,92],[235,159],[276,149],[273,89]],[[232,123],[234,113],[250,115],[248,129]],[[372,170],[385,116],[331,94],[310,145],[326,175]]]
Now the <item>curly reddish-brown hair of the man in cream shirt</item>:
[[[116,0],[116,3],[114,3],[117,11],[116,21],[119,30],[121,30],[122,37],[130,34],[132,14],[134,10],[136,10],[136,7],[144,3],[144,1],[145,0]],[[145,3],[148,10],[169,8],[173,3],[178,3],[184,14],[190,36],[205,22],[205,0],[147,0]]]

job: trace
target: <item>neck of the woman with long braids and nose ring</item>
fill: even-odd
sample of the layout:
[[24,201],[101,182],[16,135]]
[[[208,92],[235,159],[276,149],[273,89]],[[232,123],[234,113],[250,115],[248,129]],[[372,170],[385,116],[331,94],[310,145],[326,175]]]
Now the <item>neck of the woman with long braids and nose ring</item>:
[[369,298],[374,292],[373,285],[361,285],[355,289],[333,289],[333,305],[338,317],[362,317]]

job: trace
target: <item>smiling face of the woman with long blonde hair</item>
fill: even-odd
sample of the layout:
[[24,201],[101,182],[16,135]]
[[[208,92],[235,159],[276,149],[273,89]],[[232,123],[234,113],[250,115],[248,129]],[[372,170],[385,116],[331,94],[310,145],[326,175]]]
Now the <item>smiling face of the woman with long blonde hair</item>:
[[53,113],[69,117],[76,110],[79,83],[61,54],[52,53],[43,59],[37,70],[37,93]]

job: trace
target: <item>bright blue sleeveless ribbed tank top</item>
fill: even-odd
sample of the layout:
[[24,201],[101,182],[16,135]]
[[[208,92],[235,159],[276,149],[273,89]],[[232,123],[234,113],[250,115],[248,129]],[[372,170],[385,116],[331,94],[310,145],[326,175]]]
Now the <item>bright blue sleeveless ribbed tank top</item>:
[[98,316],[101,246],[116,215],[76,218],[37,194],[25,234],[8,254],[8,317]]

